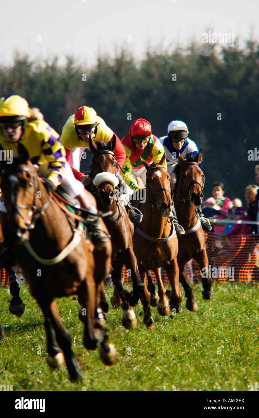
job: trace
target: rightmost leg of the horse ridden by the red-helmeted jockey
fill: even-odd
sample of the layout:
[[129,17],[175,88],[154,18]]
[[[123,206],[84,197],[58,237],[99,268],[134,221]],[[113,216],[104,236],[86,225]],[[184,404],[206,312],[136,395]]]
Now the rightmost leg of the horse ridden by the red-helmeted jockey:
[[[171,285],[170,308],[177,313],[182,312],[181,300],[182,296],[179,289],[179,267],[176,257],[173,258],[165,267],[168,280]],[[168,294],[168,293],[167,293]]]

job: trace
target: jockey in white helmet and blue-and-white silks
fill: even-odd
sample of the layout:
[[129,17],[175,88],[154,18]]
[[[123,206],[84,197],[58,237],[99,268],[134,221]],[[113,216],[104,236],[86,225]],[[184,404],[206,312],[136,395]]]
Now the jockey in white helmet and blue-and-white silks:
[[[172,120],[167,127],[167,136],[159,138],[159,141],[165,148],[167,170],[170,175],[175,175],[174,169],[178,164],[179,154],[187,160],[192,155],[197,155],[199,153],[196,143],[188,138],[188,134],[189,131],[184,122],[181,120]],[[199,167],[201,168],[201,163],[199,163]],[[176,178],[175,189],[177,188],[177,182],[178,178]],[[205,232],[211,231],[211,224],[202,216],[201,208],[198,207],[197,209],[202,229]]]

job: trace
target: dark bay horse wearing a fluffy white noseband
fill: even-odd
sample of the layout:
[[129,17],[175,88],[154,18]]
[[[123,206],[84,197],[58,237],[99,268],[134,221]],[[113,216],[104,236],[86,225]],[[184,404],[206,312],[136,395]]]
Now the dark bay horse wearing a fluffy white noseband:
[[[129,329],[135,328],[137,325],[137,319],[131,306],[138,304],[144,285],[141,281],[138,263],[133,252],[133,224],[128,217],[125,207],[119,202],[119,191],[115,190],[115,187],[118,185],[118,178],[116,177],[118,164],[113,153],[115,146],[116,138],[104,143],[101,141],[93,142],[89,138],[89,147],[93,153],[91,161],[93,182],[90,184],[89,190],[96,197],[98,210],[111,211],[111,216],[104,220],[111,235],[113,247],[111,277],[115,289],[117,289],[111,302],[113,306],[121,305],[123,309],[122,325]],[[126,265],[128,270],[131,270],[133,294],[123,288],[123,264]]]

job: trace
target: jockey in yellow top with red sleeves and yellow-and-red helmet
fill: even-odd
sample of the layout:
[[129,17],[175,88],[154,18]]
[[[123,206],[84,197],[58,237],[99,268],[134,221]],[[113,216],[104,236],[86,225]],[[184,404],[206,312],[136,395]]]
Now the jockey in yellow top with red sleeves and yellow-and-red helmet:
[[[81,148],[82,151],[85,148],[89,147],[88,139],[96,141],[111,141],[116,137],[116,147],[113,151],[118,165],[121,167],[124,163],[126,153],[119,140],[118,136],[113,133],[113,131],[106,125],[101,117],[96,115],[96,111],[92,107],[83,106],[80,107],[75,112],[75,115],[72,115],[68,118],[65,125],[63,126],[62,135],[60,140],[65,148],[66,159],[69,161],[71,150],[75,148]],[[77,171],[72,167],[75,178],[80,180],[85,186],[91,183],[91,175],[87,174],[86,176],[80,171]],[[118,171],[117,173],[119,185],[123,188],[124,182],[123,178]],[[127,191],[125,191],[127,193]],[[126,205],[126,210],[128,211],[129,218],[131,222],[138,223],[141,222],[138,217],[139,214],[135,212],[136,209],[131,208],[130,204]],[[142,220],[142,219],[141,219]]]

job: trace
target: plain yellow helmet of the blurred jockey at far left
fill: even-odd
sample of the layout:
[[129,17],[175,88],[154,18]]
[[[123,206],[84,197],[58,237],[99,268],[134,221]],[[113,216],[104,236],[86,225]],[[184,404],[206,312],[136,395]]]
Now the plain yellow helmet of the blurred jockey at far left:
[[0,118],[6,117],[17,117],[19,120],[30,117],[28,102],[15,94],[1,97]]

